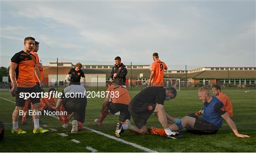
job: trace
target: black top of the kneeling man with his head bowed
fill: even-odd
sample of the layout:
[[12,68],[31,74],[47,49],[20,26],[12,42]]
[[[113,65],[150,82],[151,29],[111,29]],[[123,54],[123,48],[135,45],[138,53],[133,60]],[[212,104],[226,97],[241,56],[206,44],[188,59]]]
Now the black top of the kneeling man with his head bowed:
[[147,87],[139,92],[131,101],[132,103],[158,103],[164,105],[165,89],[161,87]]

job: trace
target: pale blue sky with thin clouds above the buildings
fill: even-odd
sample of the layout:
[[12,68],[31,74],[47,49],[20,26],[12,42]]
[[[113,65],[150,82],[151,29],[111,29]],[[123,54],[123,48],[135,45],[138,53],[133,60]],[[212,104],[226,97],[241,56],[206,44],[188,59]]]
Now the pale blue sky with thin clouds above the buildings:
[[2,1],[0,66],[39,44],[43,65],[150,65],[152,54],[168,69],[256,67],[256,1]]

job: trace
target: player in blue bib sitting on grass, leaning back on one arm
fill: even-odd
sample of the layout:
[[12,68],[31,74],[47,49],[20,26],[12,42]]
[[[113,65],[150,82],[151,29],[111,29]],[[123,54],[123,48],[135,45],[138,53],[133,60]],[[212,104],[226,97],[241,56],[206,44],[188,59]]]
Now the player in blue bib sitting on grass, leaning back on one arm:
[[[183,117],[181,123],[170,125],[170,129],[173,131],[186,128],[188,132],[197,134],[215,134],[222,126],[222,118],[227,121],[229,127],[233,130],[238,137],[250,137],[238,133],[238,129],[230,119],[228,113],[225,111],[223,103],[216,97],[211,96],[208,87],[203,86],[198,90],[198,97],[203,102],[203,116],[202,119],[192,118],[189,116]],[[165,130],[160,128],[151,127],[148,129],[151,134],[157,134],[165,136]]]

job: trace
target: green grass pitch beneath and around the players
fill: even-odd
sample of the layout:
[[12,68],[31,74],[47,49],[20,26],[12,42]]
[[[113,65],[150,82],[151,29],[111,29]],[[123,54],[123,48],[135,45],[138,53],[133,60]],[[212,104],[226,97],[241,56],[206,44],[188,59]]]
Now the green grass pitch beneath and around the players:
[[[88,88],[88,90],[94,90]],[[104,91],[102,88],[101,91]],[[139,91],[129,91],[133,98]],[[256,90],[226,90],[233,104],[233,120],[238,127],[238,132],[251,136],[250,138],[238,138],[223,121],[223,126],[215,135],[195,135],[182,130],[183,138],[166,139],[156,135],[140,136],[125,131],[120,137],[128,142],[158,152],[255,152],[256,150]],[[1,92],[0,97],[15,102],[8,92]],[[99,118],[103,98],[88,99],[84,126],[90,127],[105,134],[115,136],[115,126],[119,121],[118,115],[109,115],[101,127],[94,124],[94,119]],[[0,152],[91,152],[86,146],[99,152],[145,152],[128,144],[123,144],[108,137],[99,135],[89,130],[82,130],[78,134],[70,133],[71,125],[67,129],[61,127],[57,119],[49,116],[41,116],[46,121],[48,128],[55,128],[57,131],[50,131],[43,135],[34,135],[32,132],[32,119],[28,118],[29,125],[19,127],[27,131],[24,135],[11,133],[11,116],[15,104],[0,99],[0,121],[5,123],[5,137],[0,142]],[[196,90],[178,91],[174,100],[165,102],[166,112],[175,118],[182,118],[187,112],[200,110],[202,102],[197,97]],[[133,120],[131,119],[133,123]],[[147,121],[147,127],[161,127],[156,116],[151,116]],[[68,136],[59,136],[58,133],[65,133]],[[76,144],[71,139],[81,143]]]

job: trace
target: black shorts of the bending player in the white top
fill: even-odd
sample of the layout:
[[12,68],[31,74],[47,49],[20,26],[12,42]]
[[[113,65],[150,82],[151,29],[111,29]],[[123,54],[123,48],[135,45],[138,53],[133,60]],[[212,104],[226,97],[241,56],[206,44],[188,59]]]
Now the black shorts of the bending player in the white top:
[[85,98],[65,98],[63,106],[66,111],[74,112],[74,119],[84,122],[87,99]]

